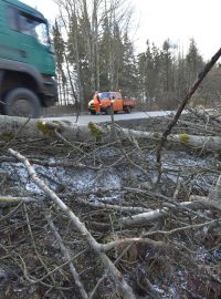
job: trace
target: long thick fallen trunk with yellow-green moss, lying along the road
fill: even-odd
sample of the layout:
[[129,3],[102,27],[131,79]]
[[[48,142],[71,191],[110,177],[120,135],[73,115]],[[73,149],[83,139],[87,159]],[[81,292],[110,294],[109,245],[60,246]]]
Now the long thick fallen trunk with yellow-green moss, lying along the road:
[[[143,140],[159,144],[161,140],[160,132],[146,132],[119,127],[115,125],[115,131],[120,141]],[[24,120],[22,117],[0,116],[0,136],[1,141],[8,141],[25,137],[25,138],[49,138],[51,141],[63,138],[67,142],[112,142],[113,126],[97,125],[90,123],[88,125],[73,124],[61,121],[44,120]],[[179,146],[178,146],[179,145]],[[191,135],[188,133],[171,134],[167,137],[166,148],[178,148],[179,151],[199,150],[202,152],[213,152],[221,150],[221,137],[214,135]]]

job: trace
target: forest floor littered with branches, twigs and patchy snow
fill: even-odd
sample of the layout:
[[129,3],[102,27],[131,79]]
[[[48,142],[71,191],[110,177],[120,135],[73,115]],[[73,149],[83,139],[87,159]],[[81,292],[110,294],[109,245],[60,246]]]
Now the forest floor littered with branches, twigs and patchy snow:
[[[164,132],[170,121],[155,117],[118,125]],[[172,133],[217,136],[221,124],[207,115],[188,114]],[[24,165],[9,155],[9,147],[28,157],[38,176],[98,243],[138,237],[150,240],[123,244],[107,254],[136,298],[221,298],[221,213],[204,205],[186,206],[191,195],[208,196],[214,186],[221,151],[167,147],[161,154],[159,179],[156,144],[144,138],[120,144],[13,138],[0,145],[1,299],[83,298],[49,214],[88,298],[122,298],[97,255],[32,182]],[[4,197],[27,199],[9,205]],[[160,215],[137,225],[129,221],[149,212]]]

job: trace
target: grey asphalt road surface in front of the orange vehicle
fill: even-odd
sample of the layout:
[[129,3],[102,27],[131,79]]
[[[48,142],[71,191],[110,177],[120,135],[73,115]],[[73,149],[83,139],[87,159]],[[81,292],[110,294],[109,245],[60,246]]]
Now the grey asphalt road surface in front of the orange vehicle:
[[[171,111],[151,111],[151,112],[133,112],[130,114],[118,113],[114,114],[115,121],[122,120],[141,120],[155,116],[165,116],[171,114]],[[46,120],[56,120],[56,121],[70,121],[76,123],[76,116],[57,116],[57,117],[46,117]],[[109,122],[109,115],[81,115],[77,120],[78,124],[88,124],[90,122],[94,123],[104,123]]]

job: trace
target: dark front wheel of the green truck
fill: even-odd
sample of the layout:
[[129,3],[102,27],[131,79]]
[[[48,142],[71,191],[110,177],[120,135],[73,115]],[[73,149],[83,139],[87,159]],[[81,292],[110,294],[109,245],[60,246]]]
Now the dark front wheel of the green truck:
[[38,96],[28,89],[14,89],[4,97],[3,112],[10,116],[40,117]]

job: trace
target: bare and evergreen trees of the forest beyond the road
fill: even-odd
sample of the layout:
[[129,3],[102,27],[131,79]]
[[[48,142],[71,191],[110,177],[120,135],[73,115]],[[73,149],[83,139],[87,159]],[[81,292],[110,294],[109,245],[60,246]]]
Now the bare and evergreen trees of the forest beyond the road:
[[[207,63],[193,38],[183,52],[169,38],[157,47],[144,37],[146,50],[138,52],[130,38],[136,21],[128,1],[57,3],[61,14],[52,35],[63,105],[74,101],[83,111],[94,91],[120,90],[124,96],[137,99],[140,109],[173,110]],[[218,63],[194,94],[193,105],[219,103],[220,73]]]

